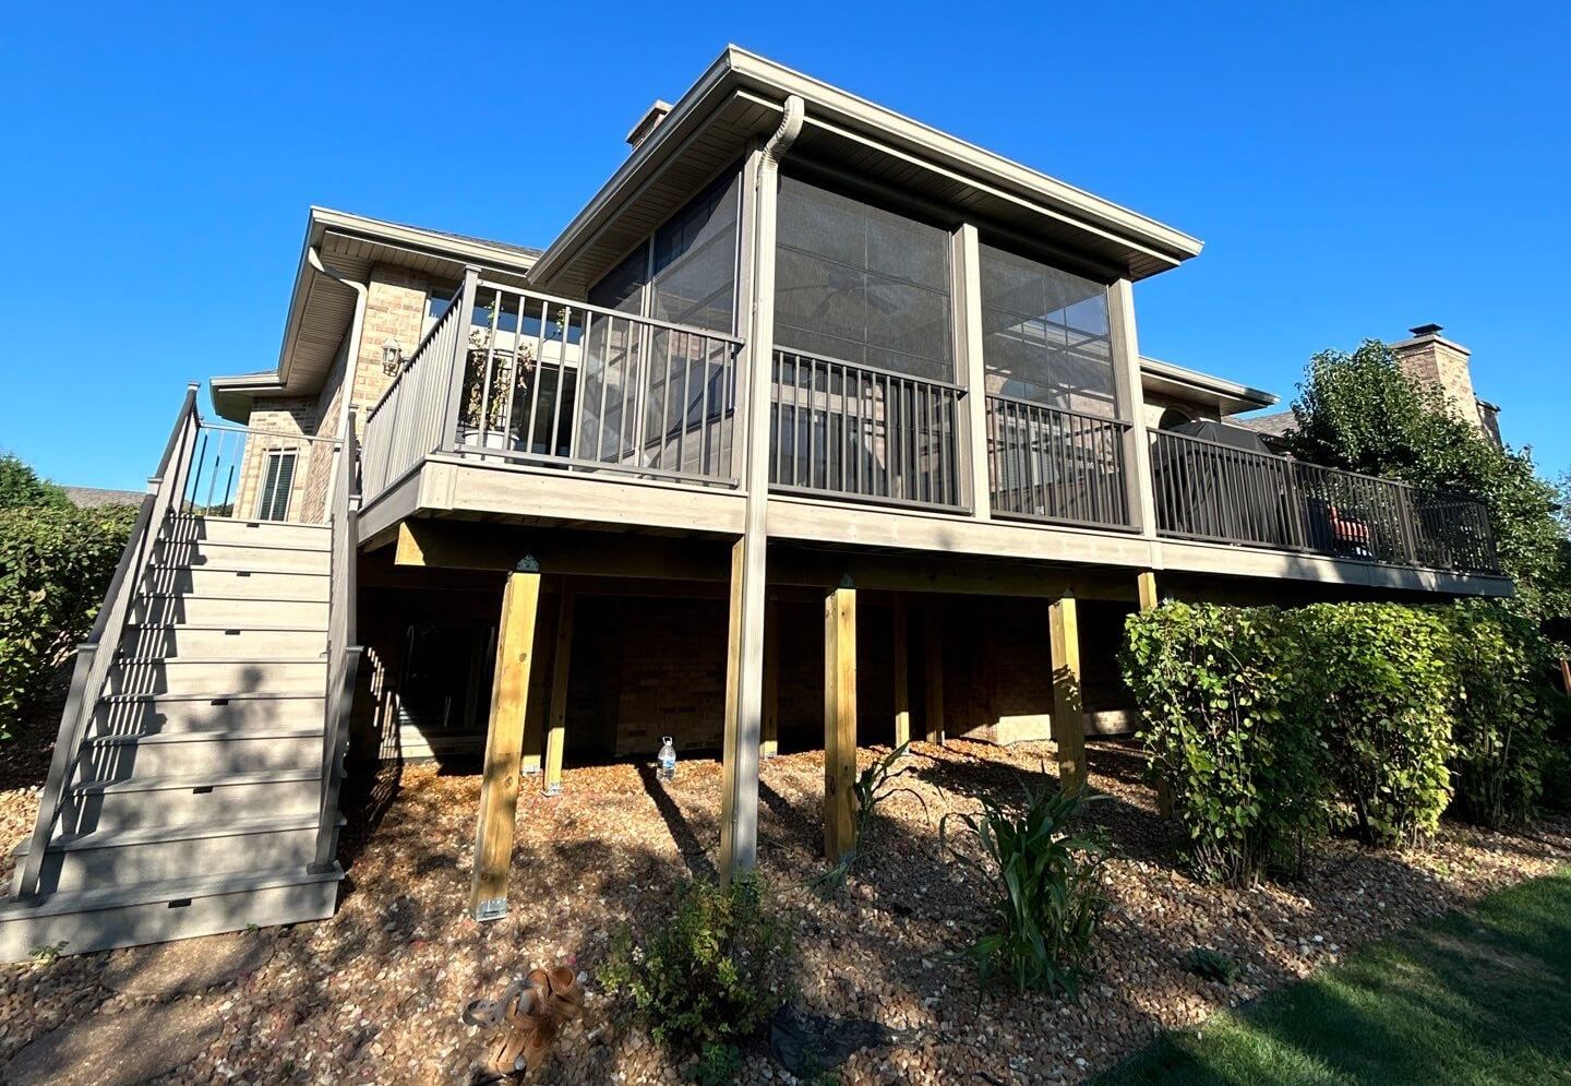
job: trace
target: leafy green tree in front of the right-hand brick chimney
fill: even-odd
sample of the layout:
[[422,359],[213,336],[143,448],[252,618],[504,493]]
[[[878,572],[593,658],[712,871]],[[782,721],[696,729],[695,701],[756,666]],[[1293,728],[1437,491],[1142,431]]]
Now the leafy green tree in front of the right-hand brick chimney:
[[1293,415],[1288,440],[1306,460],[1483,498],[1516,583],[1511,610],[1571,641],[1566,493],[1538,476],[1530,449],[1494,445],[1378,339],[1310,358]]

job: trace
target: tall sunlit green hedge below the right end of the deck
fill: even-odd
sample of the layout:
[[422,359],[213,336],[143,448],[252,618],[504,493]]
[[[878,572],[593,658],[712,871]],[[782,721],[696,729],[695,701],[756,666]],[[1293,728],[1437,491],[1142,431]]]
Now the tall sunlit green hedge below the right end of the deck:
[[1332,827],[1401,846],[1453,797],[1519,824],[1552,772],[1549,643],[1497,602],[1164,604],[1130,618],[1120,660],[1202,877],[1293,868]]

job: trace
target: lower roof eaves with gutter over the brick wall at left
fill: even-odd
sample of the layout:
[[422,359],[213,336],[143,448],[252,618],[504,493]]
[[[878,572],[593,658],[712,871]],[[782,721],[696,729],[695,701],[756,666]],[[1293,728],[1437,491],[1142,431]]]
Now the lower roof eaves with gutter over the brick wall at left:
[[305,242],[289,294],[278,366],[270,371],[212,377],[214,409],[244,421],[255,396],[311,394],[333,365],[355,313],[355,292],[311,267],[316,248],[322,261],[352,280],[364,281],[372,264],[396,264],[435,278],[457,280],[465,264],[481,264],[493,278],[523,281],[540,250],[441,229],[311,207]]

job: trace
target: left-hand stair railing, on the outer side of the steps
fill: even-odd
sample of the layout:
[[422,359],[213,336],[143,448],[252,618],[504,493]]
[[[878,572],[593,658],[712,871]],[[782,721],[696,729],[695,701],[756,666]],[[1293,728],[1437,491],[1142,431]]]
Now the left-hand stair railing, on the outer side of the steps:
[[33,839],[16,886],[17,901],[38,899],[44,850],[49,847],[49,836],[53,833],[55,820],[60,817],[64,797],[71,789],[71,778],[77,770],[77,754],[86,737],[88,723],[93,720],[93,709],[104,695],[110,666],[115,663],[115,651],[124,638],[126,616],[130,613],[130,604],[146,577],[148,564],[152,561],[154,544],[170,514],[176,509],[179,495],[185,492],[196,427],[196,385],[192,383],[185,387],[185,402],[174,420],[168,445],[163,446],[159,470],[148,479],[148,493],[141,498],[130,537],[119,555],[119,564],[115,567],[115,577],[104,594],[104,604],[99,607],[93,630],[86,641],[77,646],[71,690],[66,696],[66,707],[60,714],[60,732],[55,737],[55,753],[49,762],[49,778],[38,802],[38,822],[33,827]]

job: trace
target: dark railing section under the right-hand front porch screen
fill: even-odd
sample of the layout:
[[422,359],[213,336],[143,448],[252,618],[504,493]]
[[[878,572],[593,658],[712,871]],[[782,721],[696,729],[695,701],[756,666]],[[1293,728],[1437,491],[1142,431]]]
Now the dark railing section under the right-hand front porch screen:
[[1010,396],[987,398],[993,515],[1130,526],[1130,424]]

